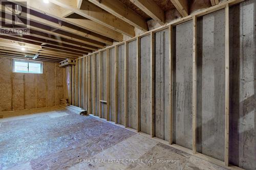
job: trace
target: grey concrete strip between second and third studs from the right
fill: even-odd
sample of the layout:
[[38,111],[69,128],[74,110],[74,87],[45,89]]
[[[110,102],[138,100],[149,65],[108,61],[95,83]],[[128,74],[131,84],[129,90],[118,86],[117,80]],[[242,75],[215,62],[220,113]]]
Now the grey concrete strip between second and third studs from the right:
[[174,143],[192,149],[192,21],[174,28]]

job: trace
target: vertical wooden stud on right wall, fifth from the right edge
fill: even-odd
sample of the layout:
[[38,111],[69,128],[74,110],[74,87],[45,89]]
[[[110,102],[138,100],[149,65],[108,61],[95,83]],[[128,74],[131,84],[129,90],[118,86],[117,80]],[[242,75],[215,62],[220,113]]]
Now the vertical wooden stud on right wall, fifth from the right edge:
[[140,132],[140,37],[137,37],[137,132]]

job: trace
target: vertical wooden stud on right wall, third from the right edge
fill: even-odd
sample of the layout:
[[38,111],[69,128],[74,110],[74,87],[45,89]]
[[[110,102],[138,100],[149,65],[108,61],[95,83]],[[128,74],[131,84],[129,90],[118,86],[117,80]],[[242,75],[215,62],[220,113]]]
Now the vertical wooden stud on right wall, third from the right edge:
[[173,144],[173,26],[168,27],[169,32],[169,112],[170,112],[170,139],[169,144]]

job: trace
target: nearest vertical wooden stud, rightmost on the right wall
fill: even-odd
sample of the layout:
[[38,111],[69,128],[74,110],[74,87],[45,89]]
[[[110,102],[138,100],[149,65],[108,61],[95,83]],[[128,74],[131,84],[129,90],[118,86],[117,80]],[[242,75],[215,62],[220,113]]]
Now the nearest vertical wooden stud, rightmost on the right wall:
[[229,144],[229,7],[225,6],[225,165],[228,166]]

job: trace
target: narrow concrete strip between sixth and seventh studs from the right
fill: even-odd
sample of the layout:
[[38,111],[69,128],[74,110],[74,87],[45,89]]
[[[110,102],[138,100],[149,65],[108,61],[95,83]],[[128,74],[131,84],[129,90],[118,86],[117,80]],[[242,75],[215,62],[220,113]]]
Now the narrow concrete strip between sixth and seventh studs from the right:
[[124,125],[124,45],[118,46],[118,123]]

